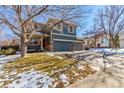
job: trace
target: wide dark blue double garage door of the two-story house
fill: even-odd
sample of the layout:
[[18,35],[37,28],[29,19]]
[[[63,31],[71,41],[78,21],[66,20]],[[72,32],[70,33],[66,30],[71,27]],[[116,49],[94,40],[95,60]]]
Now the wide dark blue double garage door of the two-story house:
[[54,51],[72,51],[72,50],[73,50],[72,42],[54,41]]

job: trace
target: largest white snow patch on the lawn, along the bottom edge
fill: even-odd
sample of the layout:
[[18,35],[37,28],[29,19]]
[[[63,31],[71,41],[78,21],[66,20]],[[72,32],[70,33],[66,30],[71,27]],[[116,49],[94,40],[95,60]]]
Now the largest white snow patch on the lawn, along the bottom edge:
[[13,81],[6,87],[9,88],[48,88],[53,79],[47,73],[39,71],[26,71],[17,75],[20,79]]

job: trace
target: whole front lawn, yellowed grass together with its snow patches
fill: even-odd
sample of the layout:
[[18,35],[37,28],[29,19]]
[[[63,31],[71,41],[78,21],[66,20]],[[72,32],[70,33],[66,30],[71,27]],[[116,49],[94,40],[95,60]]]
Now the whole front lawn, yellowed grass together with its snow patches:
[[0,87],[66,87],[96,72],[88,64],[47,53],[28,54],[0,70]]

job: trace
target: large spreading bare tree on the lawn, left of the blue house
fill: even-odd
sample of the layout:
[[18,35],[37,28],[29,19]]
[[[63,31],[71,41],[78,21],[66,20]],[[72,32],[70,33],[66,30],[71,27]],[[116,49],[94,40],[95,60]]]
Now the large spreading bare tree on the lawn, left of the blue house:
[[59,18],[53,25],[45,26],[44,31],[51,31],[57,24],[80,19],[85,13],[81,6],[0,6],[0,21],[20,37],[21,57],[24,57],[27,54],[28,43],[37,31],[34,26],[35,20]]

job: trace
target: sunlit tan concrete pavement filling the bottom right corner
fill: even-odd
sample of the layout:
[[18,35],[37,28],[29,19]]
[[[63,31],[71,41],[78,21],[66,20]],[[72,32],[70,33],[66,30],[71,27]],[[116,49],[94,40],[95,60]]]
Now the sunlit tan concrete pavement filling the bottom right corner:
[[124,87],[124,65],[116,65],[84,78],[68,88],[123,88]]

